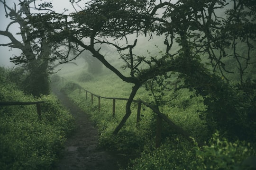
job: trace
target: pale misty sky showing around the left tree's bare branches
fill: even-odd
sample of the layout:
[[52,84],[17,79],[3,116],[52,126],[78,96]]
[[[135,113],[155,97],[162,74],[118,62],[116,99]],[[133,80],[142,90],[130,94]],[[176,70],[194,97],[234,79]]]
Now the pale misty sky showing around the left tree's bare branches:
[[[6,1],[11,8],[14,8],[14,3],[16,3],[17,9],[19,8],[18,0],[6,0]],[[67,14],[74,11],[69,0],[45,0],[45,1],[52,2],[55,11],[58,13],[61,13],[62,11],[64,11],[64,8],[69,9],[69,11],[67,11]],[[39,2],[42,2],[42,1],[39,1]],[[6,26],[8,26],[8,24],[10,23],[9,18],[5,17],[5,11],[2,3],[0,3],[0,23],[1,23],[0,24],[1,31],[4,31],[6,29]],[[16,34],[18,31],[19,31],[18,24],[13,25],[9,28],[9,32],[11,32],[12,34]],[[19,35],[16,35],[16,38],[18,40],[21,40],[19,38]],[[8,43],[8,42],[10,42],[9,38],[6,38],[5,36],[0,35],[0,44]],[[19,55],[20,53],[21,51],[18,49],[10,49],[8,46],[4,46],[4,47],[0,46],[0,66],[10,67],[14,65],[13,63],[9,62],[9,58],[13,57],[14,55]]]

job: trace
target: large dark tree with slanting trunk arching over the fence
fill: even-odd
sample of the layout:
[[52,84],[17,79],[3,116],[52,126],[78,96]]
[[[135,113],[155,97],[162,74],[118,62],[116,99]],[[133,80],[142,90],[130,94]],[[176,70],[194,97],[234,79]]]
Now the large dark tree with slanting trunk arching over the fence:
[[[222,8],[228,8],[225,16],[218,16],[217,10]],[[173,84],[170,84],[173,78],[177,79],[175,84],[180,82],[177,88],[189,88],[195,96],[203,96],[207,110],[201,117],[207,119],[210,128],[220,128],[223,133],[240,138],[245,138],[245,130],[250,135],[255,133],[245,126],[245,121],[249,122],[248,113],[255,111],[249,108],[255,102],[256,91],[249,88],[253,93],[248,93],[243,89],[250,84],[246,82],[245,75],[255,45],[256,31],[252,29],[255,27],[254,1],[178,0],[171,3],[161,0],[92,0],[81,9],[72,13],[70,20],[63,16],[63,29],[56,30],[51,36],[55,37],[54,43],[67,41],[70,49],[90,51],[94,58],[123,81],[134,85],[126,104],[126,114],[114,134],[119,132],[130,116],[131,102],[142,85],[155,82],[163,91]],[[155,33],[165,35],[165,53],[157,57],[136,56],[133,49],[137,39],[131,42],[127,37],[145,34],[152,38]],[[90,43],[84,43],[84,39]],[[122,43],[123,40],[126,43]],[[179,44],[179,51],[172,51],[174,41]],[[246,56],[238,54],[238,41],[245,44]],[[130,70],[130,76],[125,76],[112,66],[96,44],[115,47],[126,63],[123,68]],[[66,60],[68,54],[59,57]],[[227,76],[234,72],[225,66],[227,63],[224,60],[227,58],[235,59],[238,65],[235,70],[240,75],[237,86],[231,85]],[[211,67],[204,64],[202,59],[208,59]],[[140,67],[142,64],[148,67]],[[154,92],[154,89],[150,90]],[[164,93],[155,95],[155,112],[159,111],[161,95]],[[241,99],[246,102],[241,103]],[[247,102],[249,106],[246,106]]]

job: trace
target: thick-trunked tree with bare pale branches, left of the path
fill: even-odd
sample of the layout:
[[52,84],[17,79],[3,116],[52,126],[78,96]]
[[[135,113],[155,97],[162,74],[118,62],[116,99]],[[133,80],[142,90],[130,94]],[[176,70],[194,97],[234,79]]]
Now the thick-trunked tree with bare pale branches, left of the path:
[[[17,48],[22,51],[20,56],[10,58],[11,62],[20,64],[24,68],[26,78],[21,82],[22,88],[27,93],[32,93],[34,96],[40,94],[49,94],[49,74],[51,71],[51,50],[53,45],[48,41],[46,36],[38,34],[37,37],[32,36],[30,32],[33,28],[27,25],[30,12],[30,5],[36,0],[20,1],[17,5],[14,3],[14,8],[6,4],[6,0],[0,0],[3,5],[6,17],[11,22],[6,27],[6,30],[0,31],[0,35],[9,38],[9,43],[0,44],[1,46],[8,46],[9,48]],[[46,19],[46,18],[45,18]],[[12,25],[18,24],[20,32],[16,35],[9,32]],[[43,23],[41,23],[43,26]],[[19,37],[21,41],[19,41]]]

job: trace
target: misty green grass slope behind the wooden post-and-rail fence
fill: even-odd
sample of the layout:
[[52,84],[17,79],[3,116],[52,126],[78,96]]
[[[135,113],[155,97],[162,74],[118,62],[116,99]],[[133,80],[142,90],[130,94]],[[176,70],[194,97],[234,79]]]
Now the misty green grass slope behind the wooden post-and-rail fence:
[[[102,74],[99,76],[94,77],[93,80],[89,82],[79,82],[77,80],[77,76],[79,75],[82,69],[78,69],[77,71],[73,71],[72,74],[64,74],[64,78],[67,80],[72,81],[73,83],[76,83],[80,86],[82,86],[84,89],[90,91],[91,93],[94,93],[96,95],[100,95],[103,97],[122,97],[122,98],[128,98],[129,93],[132,89],[132,84],[128,84],[126,82],[123,82],[119,77],[112,74]],[[62,75],[60,75],[62,76]],[[142,99],[146,102],[151,102],[152,96],[148,95],[149,92],[146,91],[143,87],[137,92],[137,95],[135,96],[135,99]],[[70,97],[83,109],[87,109],[88,107],[93,108],[92,110],[97,112],[97,105],[98,105],[98,99],[94,97],[94,104],[91,105],[91,95],[88,93],[88,101],[85,99],[85,92],[79,94],[79,89],[76,89],[72,93],[69,94]],[[189,92],[189,90],[180,90],[178,98],[175,98],[171,102],[166,103],[165,106],[160,107],[160,110],[165,113],[174,123],[176,123],[178,126],[183,127],[185,130],[187,130],[189,133],[191,133],[192,136],[195,138],[202,139],[206,135],[206,126],[205,122],[201,121],[199,119],[199,113],[197,110],[204,110],[204,105],[202,104],[202,100],[200,97],[198,98],[192,98],[190,99],[190,95],[192,95],[192,92]],[[166,95],[166,98],[172,98],[172,93],[169,95]],[[86,108],[84,107],[85,104],[88,103]],[[113,124],[111,126],[106,127],[108,131],[113,131],[113,129],[118,125],[119,121],[122,119],[122,117],[125,114],[125,105],[126,101],[116,101],[116,115],[113,119]],[[126,126],[135,127],[136,126],[136,118],[137,118],[137,103],[133,103],[132,107],[132,114],[130,118],[128,119],[128,122],[126,123]],[[91,111],[91,110],[90,110]],[[101,114],[104,115],[104,118],[95,116],[95,114]],[[142,105],[142,121],[140,124],[143,124],[145,126],[145,129],[151,128],[149,126],[152,126],[152,121],[154,122],[154,113],[147,108],[146,106]],[[107,118],[105,116],[108,116]],[[107,126],[103,123],[105,120],[111,119],[112,116],[112,100],[109,99],[101,99],[101,112],[99,113],[93,113],[92,119],[104,119],[101,120],[100,124],[104,124],[103,127]],[[94,118],[95,117],[95,118]],[[101,126],[101,125],[99,125]],[[126,127],[126,128],[127,128]],[[154,130],[152,130],[154,131]],[[200,133],[198,133],[200,131]],[[151,132],[152,133],[152,132]]]

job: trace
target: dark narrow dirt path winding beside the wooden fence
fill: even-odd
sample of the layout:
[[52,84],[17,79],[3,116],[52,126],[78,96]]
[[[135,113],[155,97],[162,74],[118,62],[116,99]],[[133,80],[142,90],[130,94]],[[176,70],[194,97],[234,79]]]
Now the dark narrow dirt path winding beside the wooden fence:
[[98,148],[98,130],[90,116],[75,106],[59,89],[52,87],[60,102],[70,110],[76,122],[76,130],[65,142],[63,157],[56,163],[56,170],[119,170],[128,158]]

